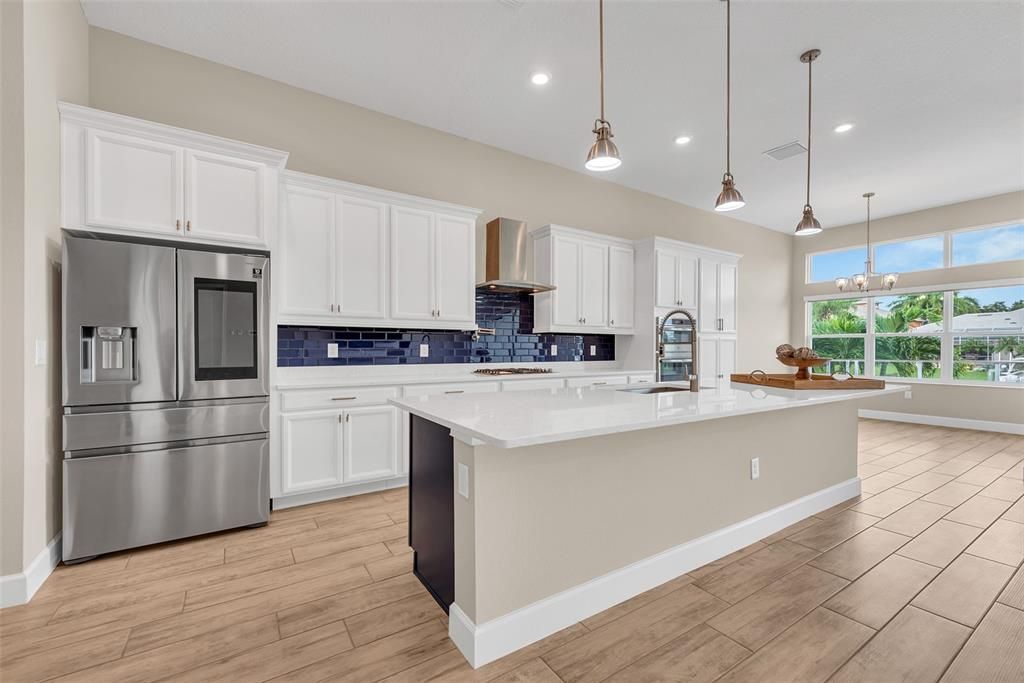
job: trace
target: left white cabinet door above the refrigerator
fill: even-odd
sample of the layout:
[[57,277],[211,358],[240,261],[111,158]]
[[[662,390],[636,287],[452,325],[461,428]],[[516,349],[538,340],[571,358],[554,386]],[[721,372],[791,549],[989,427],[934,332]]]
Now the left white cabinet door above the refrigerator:
[[183,156],[171,144],[86,131],[86,224],[182,234]]

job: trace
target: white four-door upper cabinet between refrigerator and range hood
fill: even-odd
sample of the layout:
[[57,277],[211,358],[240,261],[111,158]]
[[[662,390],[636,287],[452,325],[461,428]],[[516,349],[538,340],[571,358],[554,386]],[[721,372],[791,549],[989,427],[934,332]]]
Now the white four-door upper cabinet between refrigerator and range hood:
[[475,329],[476,210],[284,176],[281,322]]

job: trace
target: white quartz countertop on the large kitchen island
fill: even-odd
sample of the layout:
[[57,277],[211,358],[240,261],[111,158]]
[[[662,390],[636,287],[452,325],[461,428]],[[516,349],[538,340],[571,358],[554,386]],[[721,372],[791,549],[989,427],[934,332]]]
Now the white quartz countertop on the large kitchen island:
[[[645,385],[647,387],[655,385]],[[447,427],[457,438],[502,449],[719,420],[903,391],[793,391],[730,384],[727,388],[639,394],[623,387],[509,391],[393,398],[391,403]]]

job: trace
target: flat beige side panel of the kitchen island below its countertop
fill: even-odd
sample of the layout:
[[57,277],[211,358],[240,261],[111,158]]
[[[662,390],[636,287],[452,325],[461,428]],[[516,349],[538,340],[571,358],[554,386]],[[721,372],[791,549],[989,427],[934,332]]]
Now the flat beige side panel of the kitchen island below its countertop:
[[513,450],[457,442],[470,500],[455,498],[456,604],[483,624],[852,479],[861,402]]

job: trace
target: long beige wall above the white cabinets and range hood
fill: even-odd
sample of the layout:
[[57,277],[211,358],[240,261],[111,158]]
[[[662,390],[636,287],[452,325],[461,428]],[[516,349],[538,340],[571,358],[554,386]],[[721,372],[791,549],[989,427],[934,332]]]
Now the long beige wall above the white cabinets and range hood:
[[294,170],[478,207],[481,225],[501,215],[742,253],[739,367],[763,367],[788,333],[786,234],[101,29],[90,70],[97,109],[286,150]]

